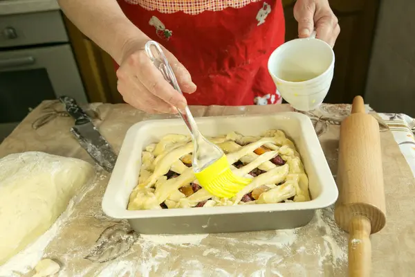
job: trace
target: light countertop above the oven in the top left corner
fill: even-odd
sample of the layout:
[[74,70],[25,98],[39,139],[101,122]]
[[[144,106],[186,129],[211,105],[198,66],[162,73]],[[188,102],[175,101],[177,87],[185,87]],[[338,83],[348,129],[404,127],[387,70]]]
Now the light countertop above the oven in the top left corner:
[[0,0],[0,15],[59,10],[57,0]]

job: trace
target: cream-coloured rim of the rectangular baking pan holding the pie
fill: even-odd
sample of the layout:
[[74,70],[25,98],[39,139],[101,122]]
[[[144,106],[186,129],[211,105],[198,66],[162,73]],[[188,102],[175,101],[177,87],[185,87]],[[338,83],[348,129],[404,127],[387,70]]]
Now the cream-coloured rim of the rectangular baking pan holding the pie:
[[[305,131],[309,134],[309,132],[313,132],[314,135],[307,136],[307,139],[304,141],[306,145],[308,146],[308,150],[310,148],[315,147],[318,145],[320,149],[317,149],[317,155],[323,155],[324,161],[326,163],[326,159],[324,157],[324,153],[322,152],[322,148],[320,146],[320,142],[317,139],[317,135],[315,134],[313,125],[311,123],[311,120],[308,118],[308,116],[304,114],[299,114],[296,112],[281,112],[276,114],[257,114],[257,115],[232,115],[232,116],[206,116],[206,117],[199,117],[196,118],[196,122],[203,123],[206,120],[221,120],[221,118],[270,118],[278,116],[279,119],[292,119],[295,118],[299,121],[301,121],[301,125]],[[131,126],[129,130],[127,131],[127,134],[125,136],[124,142],[122,145],[131,145],[133,144],[133,140],[136,138],[137,132],[142,129],[144,131],[145,127],[149,127],[151,125],[172,125],[172,123],[176,124],[183,124],[181,122],[180,118],[172,118],[172,119],[165,119],[165,120],[146,120],[142,121],[140,123],[136,123],[135,125]],[[317,143],[317,145],[316,145]],[[142,150],[140,150],[142,151]],[[315,151],[315,149],[313,149]],[[119,155],[120,157],[129,156],[129,152],[131,152],[131,149],[127,149],[122,147]],[[303,154],[300,152],[300,154],[303,157]],[[140,153],[141,155],[141,153]],[[321,157],[318,157],[320,159]],[[118,168],[120,170],[120,168]],[[336,199],[338,198],[338,190],[335,186],[335,182],[333,180],[333,176],[331,175],[331,172],[329,170],[329,167],[327,164],[323,164],[322,168],[322,174],[320,177],[324,178],[324,183],[330,184],[330,186],[324,187],[322,189],[322,192],[320,195],[315,197],[309,202],[294,202],[294,203],[279,203],[279,204],[257,204],[257,205],[236,205],[236,206],[219,206],[219,207],[212,207],[212,208],[176,208],[176,209],[163,209],[163,210],[145,210],[145,211],[128,211],[126,207],[121,208],[120,205],[113,205],[114,199],[111,197],[110,194],[110,186],[113,184],[111,182],[111,179],[113,179],[113,176],[111,176],[111,179],[109,181],[109,186],[107,187],[107,190],[105,191],[104,198],[102,200],[102,210],[104,213],[106,213],[109,217],[117,218],[117,219],[140,219],[140,218],[149,218],[149,217],[186,217],[186,216],[197,216],[197,215],[225,215],[225,214],[238,214],[238,213],[262,213],[262,212],[269,212],[269,213],[275,213],[275,212],[283,212],[283,211],[299,211],[299,210],[315,210],[318,208],[325,208],[327,206],[331,206]],[[124,168],[124,171],[127,171]],[[116,174],[122,174],[122,172],[117,173],[117,168],[114,168],[114,173]],[[137,176],[138,178],[138,176]],[[114,186],[112,186],[114,188]],[[131,193],[131,191],[130,191]]]

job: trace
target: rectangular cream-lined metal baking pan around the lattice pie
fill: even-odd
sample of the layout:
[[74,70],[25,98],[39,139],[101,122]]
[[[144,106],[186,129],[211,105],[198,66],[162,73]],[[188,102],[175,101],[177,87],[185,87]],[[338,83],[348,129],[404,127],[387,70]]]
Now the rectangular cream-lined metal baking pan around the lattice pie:
[[166,134],[189,134],[183,120],[165,119],[142,121],[128,130],[102,199],[104,213],[114,219],[128,220],[135,231],[145,234],[261,231],[304,226],[316,209],[331,206],[338,198],[337,186],[308,116],[295,112],[212,116],[196,118],[196,123],[205,136],[232,131],[259,136],[268,129],[284,131],[302,157],[311,201],[128,211],[129,195],[138,183],[142,150]]

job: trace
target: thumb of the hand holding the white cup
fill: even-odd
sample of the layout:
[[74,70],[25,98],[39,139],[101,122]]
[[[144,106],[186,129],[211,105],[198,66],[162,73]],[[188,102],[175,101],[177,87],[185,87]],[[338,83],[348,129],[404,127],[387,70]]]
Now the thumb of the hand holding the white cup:
[[314,30],[315,1],[299,0],[294,6],[294,18],[298,22],[298,37],[310,37]]

